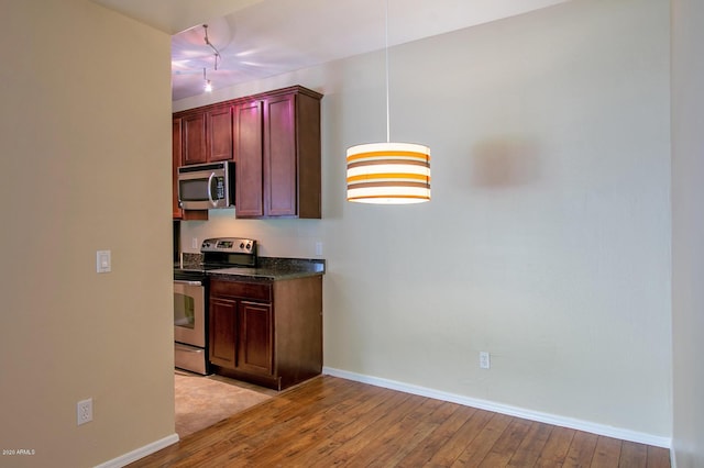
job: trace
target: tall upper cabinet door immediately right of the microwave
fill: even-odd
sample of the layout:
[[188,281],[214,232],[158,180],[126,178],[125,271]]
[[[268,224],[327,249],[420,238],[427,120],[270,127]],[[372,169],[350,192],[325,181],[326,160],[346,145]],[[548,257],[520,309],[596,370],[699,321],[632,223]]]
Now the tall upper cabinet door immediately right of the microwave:
[[262,101],[234,107],[235,215],[264,215],[262,170]]

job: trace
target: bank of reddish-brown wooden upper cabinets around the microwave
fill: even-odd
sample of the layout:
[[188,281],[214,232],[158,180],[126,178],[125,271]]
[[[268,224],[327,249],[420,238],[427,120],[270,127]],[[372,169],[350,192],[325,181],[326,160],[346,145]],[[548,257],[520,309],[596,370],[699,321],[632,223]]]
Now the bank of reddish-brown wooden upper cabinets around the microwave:
[[177,112],[182,164],[234,160],[237,218],[320,219],[321,99],[293,86]]

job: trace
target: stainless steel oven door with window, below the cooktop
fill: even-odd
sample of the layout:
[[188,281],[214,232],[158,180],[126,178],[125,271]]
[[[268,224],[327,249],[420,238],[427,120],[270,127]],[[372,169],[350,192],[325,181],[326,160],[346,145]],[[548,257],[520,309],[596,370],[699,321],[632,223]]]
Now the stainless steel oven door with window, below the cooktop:
[[174,280],[174,341],[206,347],[206,288],[201,281]]

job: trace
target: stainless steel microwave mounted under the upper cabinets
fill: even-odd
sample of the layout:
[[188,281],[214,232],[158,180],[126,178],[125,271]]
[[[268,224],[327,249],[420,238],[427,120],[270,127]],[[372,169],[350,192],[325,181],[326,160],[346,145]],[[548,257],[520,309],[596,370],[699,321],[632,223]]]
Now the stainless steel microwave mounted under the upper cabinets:
[[234,163],[179,167],[178,202],[184,210],[234,207]]

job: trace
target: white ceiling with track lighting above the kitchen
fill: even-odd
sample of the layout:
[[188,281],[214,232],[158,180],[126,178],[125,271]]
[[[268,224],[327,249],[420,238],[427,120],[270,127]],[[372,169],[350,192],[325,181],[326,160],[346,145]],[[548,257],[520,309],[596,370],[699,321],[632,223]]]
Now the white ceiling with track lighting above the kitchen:
[[[94,0],[172,34],[173,100],[385,46],[382,0]],[[388,0],[389,46],[569,0]],[[215,70],[215,52],[221,55]]]

